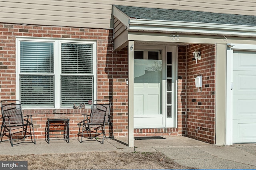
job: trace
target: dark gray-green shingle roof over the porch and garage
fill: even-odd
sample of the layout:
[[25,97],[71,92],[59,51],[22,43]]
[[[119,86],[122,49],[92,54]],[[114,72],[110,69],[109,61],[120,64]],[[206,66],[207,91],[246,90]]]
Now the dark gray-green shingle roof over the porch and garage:
[[256,16],[114,5],[130,18],[256,26]]

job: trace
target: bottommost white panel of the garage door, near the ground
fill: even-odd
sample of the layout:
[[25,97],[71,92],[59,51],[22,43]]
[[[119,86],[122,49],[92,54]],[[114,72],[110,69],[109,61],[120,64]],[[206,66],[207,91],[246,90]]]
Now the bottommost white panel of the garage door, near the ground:
[[256,142],[256,119],[233,121],[233,143]]

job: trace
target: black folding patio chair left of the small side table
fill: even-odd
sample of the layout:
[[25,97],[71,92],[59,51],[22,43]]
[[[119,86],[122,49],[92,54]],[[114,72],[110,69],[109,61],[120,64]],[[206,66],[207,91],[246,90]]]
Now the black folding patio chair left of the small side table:
[[[1,141],[3,136],[7,136],[10,139],[10,143],[13,147],[13,140],[20,140],[23,138],[25,142],[26,136],[31,136],[31,140],[36,144],[36,138],[34,134],[34,127],[32,123],[32,115],[26,115],[23,117],[20,101],[18,100],[4,100],[1,101],[2,109],[2,126],[0,131]],[[28,127],[30,131],[28,131]],[[32,130],[32,131],[31,131]],[[33,134],[32,134],[33,132]],[[34,141],[32,139],[34,137]],[[16,143],[18,144],[18,143]]]

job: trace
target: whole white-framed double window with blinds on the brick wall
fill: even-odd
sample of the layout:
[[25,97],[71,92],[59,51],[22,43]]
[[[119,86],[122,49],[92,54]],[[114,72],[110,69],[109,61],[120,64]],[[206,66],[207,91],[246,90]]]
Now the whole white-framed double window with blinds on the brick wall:
[[18,92],[24,107],[70,108],[93,100],[95,42],[18,42]]

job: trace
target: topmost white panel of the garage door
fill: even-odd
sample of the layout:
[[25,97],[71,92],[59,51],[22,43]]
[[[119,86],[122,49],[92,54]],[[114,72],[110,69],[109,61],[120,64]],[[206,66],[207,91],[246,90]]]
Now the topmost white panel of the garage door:
[[255,51],[234,51],[233,70],[256,71]]

